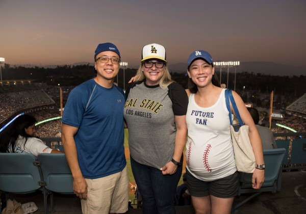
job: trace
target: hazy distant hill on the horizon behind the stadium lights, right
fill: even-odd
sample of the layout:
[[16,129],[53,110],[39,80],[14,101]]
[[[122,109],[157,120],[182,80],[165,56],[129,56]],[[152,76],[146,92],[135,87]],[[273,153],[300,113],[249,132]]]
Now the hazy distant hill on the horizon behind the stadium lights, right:
[[[177,63],[169,65],[171,72],[184,73],[187,70],[187,63]],[[217,68],[220,71],[220,68]],[[227,71],[227,68],[222,68],[222,71]],[[230,72],[234,72],[234,68],[230,68]],[[266,75],[292,76],[306,75],[306,67],[282,65],[273,62],[240,62],[237,67],[237,72],[253,72],[263,73]]]

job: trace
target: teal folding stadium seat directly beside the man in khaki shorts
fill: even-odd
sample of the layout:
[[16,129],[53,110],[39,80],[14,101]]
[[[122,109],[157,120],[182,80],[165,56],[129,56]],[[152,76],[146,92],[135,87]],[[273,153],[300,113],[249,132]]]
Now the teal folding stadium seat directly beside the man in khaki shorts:
[[72,175],[65,154],[41,153],[37,156],[45,182],[45,211],[48,210],[47,198],[50,195],[51,212],[54,212],[53,192],[74,194],[72,189]]

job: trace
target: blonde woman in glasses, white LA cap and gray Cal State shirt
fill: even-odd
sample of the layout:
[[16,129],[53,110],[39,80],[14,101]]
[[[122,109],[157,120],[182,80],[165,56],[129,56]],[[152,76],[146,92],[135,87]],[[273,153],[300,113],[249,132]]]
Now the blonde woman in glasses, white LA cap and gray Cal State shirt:
[[135,81],[125,91],[124,119],[142,209],[144,213],[175,213],[187,136],[187,94],[171,80],[166,50],[159,44],[143,47]]

